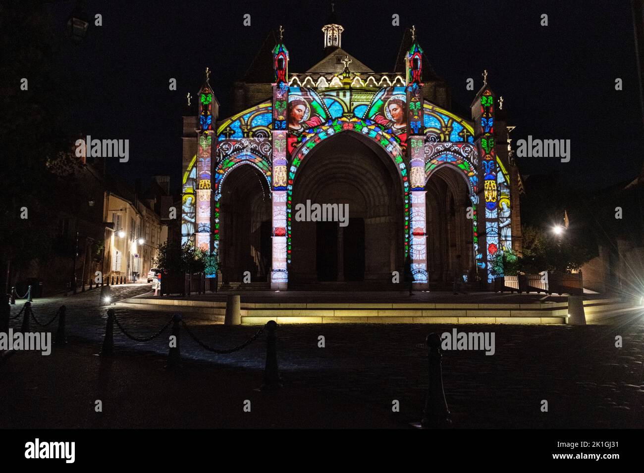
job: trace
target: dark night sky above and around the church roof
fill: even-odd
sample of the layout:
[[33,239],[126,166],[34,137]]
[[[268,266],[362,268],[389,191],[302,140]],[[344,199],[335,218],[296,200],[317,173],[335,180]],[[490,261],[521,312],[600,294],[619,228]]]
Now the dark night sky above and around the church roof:
[[[453,101],[469,107],[480,74],[503,95],[513,139],[570,139],[571,162],[518,160],[523,174],[560,171],[571,186],[625,180],[641,167],[641,111],[630,1],[593,8],[586,1],[346,1],[336,6],[343,49],[375,71],[393,69],[403,28],[416,25],[434,70],[451,84]],[[278,5],[285,6],[285,14]],[[418,5],[425,10],[422,11]],[[74,3],[50,6],[54,28]],[[323,55],[325,1],[88,1],[102,14],[81,44],[64,41],[54,58],[60,80],[77,93],[73,124],[96,138],[130,140],[128,163],[111,171],[146,182],[181,174],[181,115],[185,94],[196,95],[204,69],[231,113],[232,82],[243,76],[271,28],[283,24],[291,72],[303,72]],[[412,12],[419,12],[414,15]],[[252,26],[242,26],[243,14]],[[392,14],[401,26],[392,26]],[[547,14],[549,26],[540,26]],[[169,91],[174,77],[177,91]],[[475,91],[466,79],[475,79]],[[623,91],[614,89],[616,77]],[[269,97],[267,97],[269,98]],[[467,116],[466,118],[469,118]]]

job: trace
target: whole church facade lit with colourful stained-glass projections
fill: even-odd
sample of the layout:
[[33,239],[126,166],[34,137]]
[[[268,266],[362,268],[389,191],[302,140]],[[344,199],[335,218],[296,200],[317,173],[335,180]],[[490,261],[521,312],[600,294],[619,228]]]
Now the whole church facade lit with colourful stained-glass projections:
[[[491,283],[498,252],[521,249],[520,178],[487,74],[464,118],[415,28],[391,73],[346,53],[333,17],[323,59],[292,73],[282,32],[234,84],[237,113],[219,119],[207,70],[184,116],[183,241],[224,283],[273,290],[386,288],[405,270],[416,289]],[[312,204],[346,221],[302,218]]]

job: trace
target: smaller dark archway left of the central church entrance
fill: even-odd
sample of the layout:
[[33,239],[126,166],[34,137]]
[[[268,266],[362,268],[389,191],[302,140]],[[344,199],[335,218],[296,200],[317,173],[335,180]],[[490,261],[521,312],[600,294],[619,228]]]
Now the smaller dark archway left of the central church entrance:
[[[223,184],[223,182],[222,182]],[[218,199],[218,254],[223,283],[266,283],[271,259],[271,201],[265,176],[254,165],[227,172]]]

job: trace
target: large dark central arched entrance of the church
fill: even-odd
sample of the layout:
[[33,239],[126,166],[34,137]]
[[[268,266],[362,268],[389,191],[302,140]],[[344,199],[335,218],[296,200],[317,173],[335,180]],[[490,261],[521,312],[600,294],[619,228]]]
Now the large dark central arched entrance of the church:
[[[298,220],[298,204],[307,201],[348,206],[346,226]],[[291,216],[290,287],[384,286],[392,282],[392,271],[403,274],[399,171],[386,151],[362,134],[337,133],[307,154],[293,183]]]

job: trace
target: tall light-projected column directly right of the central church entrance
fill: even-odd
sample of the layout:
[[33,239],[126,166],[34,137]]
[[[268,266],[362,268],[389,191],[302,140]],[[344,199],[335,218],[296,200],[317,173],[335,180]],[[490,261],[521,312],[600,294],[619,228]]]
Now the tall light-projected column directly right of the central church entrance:
[[410,251],[413,285],[425,288],[427,272],[427,217],[425,208],[425,135],[422,107],[422,49],[412,28],[412,48],[407,53],[407,123],[412,183],[412,212],[410,221]]

